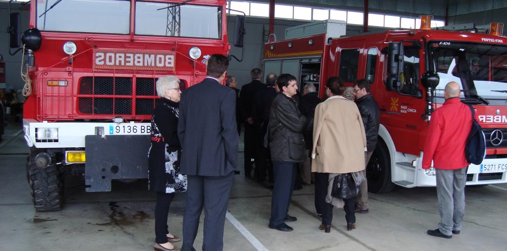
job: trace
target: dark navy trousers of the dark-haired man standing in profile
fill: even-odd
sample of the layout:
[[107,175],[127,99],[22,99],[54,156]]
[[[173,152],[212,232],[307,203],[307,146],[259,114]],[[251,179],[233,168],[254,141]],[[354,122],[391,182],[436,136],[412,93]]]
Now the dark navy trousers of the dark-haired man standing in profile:
[[289,211],[292,190],[294,189],[295,169],[298,163],[273,162],[274,185],[271,198],[270,226],[279,226]]

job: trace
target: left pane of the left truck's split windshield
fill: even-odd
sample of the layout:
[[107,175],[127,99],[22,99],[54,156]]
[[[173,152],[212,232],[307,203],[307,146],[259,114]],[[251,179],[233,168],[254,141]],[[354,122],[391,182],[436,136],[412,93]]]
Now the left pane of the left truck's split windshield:
[[37,0],[39,30],[129,34],[130,1],[65,0],[55,5],[56,2]]

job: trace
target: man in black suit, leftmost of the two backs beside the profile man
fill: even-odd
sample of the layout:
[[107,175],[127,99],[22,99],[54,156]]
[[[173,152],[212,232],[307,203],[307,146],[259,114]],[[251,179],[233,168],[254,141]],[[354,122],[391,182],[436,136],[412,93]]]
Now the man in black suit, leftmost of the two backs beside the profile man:
[[266,86],[261,82],[261,69],[252,69],[250,77],[252,78],[252,81],[243,85],[240,92],[241,112],[243,116],[243,123],[245,124],[245,132],[243,135],[245,145],[245,176],[247,177],[250,177],[252,162],[254,161],[255,156],[255,126],[252,115],[254,99],[257,92],[266,88]]

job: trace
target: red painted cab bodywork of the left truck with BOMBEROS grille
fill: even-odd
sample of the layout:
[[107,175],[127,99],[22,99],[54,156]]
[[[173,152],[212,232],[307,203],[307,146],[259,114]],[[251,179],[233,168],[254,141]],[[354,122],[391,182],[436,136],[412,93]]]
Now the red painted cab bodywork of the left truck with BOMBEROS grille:
[[[157,1],[164,2],[178,4],[184,1]],[[226,2],[195,0],[188,4],[213,6],[225,10]],[[32,1],[31,28],[36,28],[37,24],[36,5],[37,1]],[[204,56],[228,52],[227,24],[223,11],[218,21],[221,33],[217,39],[154,36],[136,34],[134,31],[136,1],[132,0],[130,6],[129,34],[41,31],[41,47],[34,52],[34,66],[29,69],[33,92],[24,105],[25,119],[50,122],[111,121],[113,117],[122,117],[125,121],[149,122],[158,99],[155,88],[158,77],[175,75],[181,80],[182,89],[192,86],[206,76],[207,59]],[[67,41],[77,45],[76,53],[71,56],[62,50],[62,45]],[[202,53],[194,60],[188,53],[189,49],[196,46]],[[113,55],[110,58],[108,50],[113,53],[110,54]],[[100,57],[97,53],[101,52],[106,53],[102,54],[101,59],[105,60],[106,64],[107,60],[119,60],[118,64],[126,65],[127,62],[131,62],[132,66],[101,68],[97,64],[104,62],[97,59]],[[132,63],[136,60],[136,54],[142,54],[143,62],[152,60],[151,64],[156,65],[159,61],[153,60],[159,59],[157,53],[162,55],[164,60],[166,55],[171,54],[168,61],[160,61],[161,64],[165,63],[171,67],[135,67],[136,63]],[[154,58],[146,59],[149,56]],[[67,81],[68,85],[48,86],[47,81],[50,80]],[[108,85],[110,89],[104,90],[99,84]]]

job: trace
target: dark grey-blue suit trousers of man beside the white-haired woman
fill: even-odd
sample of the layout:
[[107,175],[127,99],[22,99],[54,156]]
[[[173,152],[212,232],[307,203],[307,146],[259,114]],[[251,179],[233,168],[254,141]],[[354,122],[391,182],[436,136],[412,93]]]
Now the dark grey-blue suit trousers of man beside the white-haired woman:
[[202,250],[222,250],[224,224],[233,187],[234,172],[225,176],[187,175],[183,244],[181,250],[195,251],[194,241],[204,207],[204,240]]

